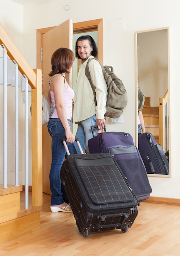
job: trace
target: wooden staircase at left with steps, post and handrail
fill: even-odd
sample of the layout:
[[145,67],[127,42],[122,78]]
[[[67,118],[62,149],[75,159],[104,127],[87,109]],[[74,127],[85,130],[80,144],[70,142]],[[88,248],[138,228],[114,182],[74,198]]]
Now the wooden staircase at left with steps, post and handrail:
[[[25,234],[40,229],[40,211],[42,210],[42,71],[40,69],[32,69],[26,61],[18,47],[14,44],[7,31],[0,23],[0,44],[3,46],[4,56],[7,55],[12,61],[18,65],[18,70],[23,76],[27,77],[28,83],[31,86],[31,136],[29,133],[22,132],[20,136],[23,141],[29,141],[31,144],[31,152],[28,158],[31,159],[31,183],[20,184],[15,186],[11,184],[0,184],[0,244],[13,240]],[[6,51],[5,51],[6,49]],[[8,90],[9,91],[9,90]],[[19,91],[18,91],[19,92]],[[12,93],[13,94],[13,93]],[[14,93],[16,94],[16,93]],[[7,94],[7,98],[13,96]],[[24,97],[26,98],[26,97]],[[25,105],[25,104],[24,104]],[[13,113],[11,113],[13,115]],[[10,116],[11,118],[11,116]],[[22,122],[22,115],[19,115]],[[24,117],[25,119],[25,117]],[[23,120],[24,121],[24,120]],[[24,121],[25,123],[25,121]],[[20,123],[21,124],[21,123]],[[29,124],[30,126],[30,124]],[[15,131],[15,126],[8,127],[9,133]],[[3,132],[1,133],[1,141],[3,141]],[[9,139],[9,137],[8,137]],[[23,148],[24,149],[24,148]],[[7,151],[7,150],[6,150]],[[5,152],[7,153],[7,152]],[[4,153],[4,154],[5,154]],[[22,155],[23,157],[23,155]],[[11,159],[8,158],[8,161]],[[20,175],[26,176],[24,159],[24,167]],[[6,162],[6,161],[5,161]],[[6,175],[13,175],[4,168]],[[16,170],[15,170],[16,172]],[[16,173],[15,173],[16,174]],[[29,173],[28,173],[29,175]],[[8,178],[8,177],[7,177]],[[5,179],[4,179],[5,180]],[[8,179],[7,179],[8,182]],[[29,180],[28,180],[29,182]],[[3,188],[7,186],[7,188]],[[28,191],[27,191],[28,190]],[[24,191],[26,193],[24,193]],[[28,193],[29,192],[29,195]],[[24,196],[25,194],[25,196]],[[25,206],[25,204],[27,206]]]

